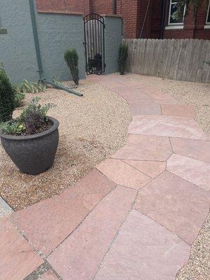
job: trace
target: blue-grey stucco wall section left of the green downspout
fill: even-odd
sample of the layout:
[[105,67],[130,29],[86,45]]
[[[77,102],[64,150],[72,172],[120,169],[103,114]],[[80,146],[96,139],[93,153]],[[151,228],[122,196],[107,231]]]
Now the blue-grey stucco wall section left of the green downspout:
[[1,0],[0,13],[2,27],[7,29],[7,34],[0,34],[0,62],[10,80],[38,80],[29,1]]

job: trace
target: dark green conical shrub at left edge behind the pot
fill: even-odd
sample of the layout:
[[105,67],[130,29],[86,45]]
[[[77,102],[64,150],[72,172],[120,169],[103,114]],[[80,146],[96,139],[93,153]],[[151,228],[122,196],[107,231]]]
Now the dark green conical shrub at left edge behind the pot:
[[0,123],[12,119],[15,90],[10,84],[3,66],[0,66]]

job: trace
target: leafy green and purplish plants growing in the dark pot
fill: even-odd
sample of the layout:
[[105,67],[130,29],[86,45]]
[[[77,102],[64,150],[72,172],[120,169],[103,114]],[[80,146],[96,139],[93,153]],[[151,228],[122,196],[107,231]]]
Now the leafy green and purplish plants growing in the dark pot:
[[36,134],[41,128],[48,123],[46,114],[55,107],[54,104],[48,103],[41,106],[38,102],[40,97],[31,99],[25,109],[22,110],[19,118],[12,123],[1,124],[3,134]]

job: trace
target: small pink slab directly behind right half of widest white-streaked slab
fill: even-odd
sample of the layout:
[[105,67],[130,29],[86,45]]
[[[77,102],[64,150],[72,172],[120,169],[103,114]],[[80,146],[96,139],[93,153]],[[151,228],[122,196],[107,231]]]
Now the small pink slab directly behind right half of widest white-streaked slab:
[[183,117],[195,117],[193,106],[179,105],[179,104],[162,104],[162,115],[166,116],[183,116]]

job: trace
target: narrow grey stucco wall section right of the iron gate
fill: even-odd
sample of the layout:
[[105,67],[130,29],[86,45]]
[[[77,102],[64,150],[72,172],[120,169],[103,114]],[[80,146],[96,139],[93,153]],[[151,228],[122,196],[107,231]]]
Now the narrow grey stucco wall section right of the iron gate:
[[122,41],[122,19],[105,18],[105,74],[118,71],[118,48]]

